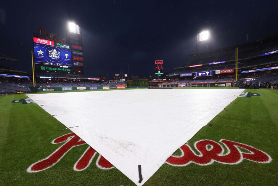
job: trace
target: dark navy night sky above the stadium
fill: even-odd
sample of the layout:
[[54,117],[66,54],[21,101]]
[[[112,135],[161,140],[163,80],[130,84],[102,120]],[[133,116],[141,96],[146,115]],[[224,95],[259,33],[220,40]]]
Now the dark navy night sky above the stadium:
[[[3,3],[4,2],[4,3]],[[193,60],[197,33],[209,30],[212,49],[256,41],[277,33],[278,1],[3,1],[0,54],[32,71],[33,33],[44,28],[65,38],[70,21],[83,33],[84,74],[128,73],[147,78],[155,60],[165,73]],[[203,48],[204,49],[204,48]],[[202,48],[199,52],[202,52]]]

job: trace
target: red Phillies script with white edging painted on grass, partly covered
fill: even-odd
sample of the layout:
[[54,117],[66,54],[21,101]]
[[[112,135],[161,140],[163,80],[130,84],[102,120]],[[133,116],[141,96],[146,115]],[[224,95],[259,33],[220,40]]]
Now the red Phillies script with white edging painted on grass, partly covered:
[[[46,158],[30,165],[27,171],[39,172],[46,170],[60,161],[73,147],[86,144],[86,142],[81,140],[80,137],[74,133],[60,136],[54,139],[52,144],[62,142],[65,143]],[[186,166],[190,163],[196,163],[198,165],[210,165],[215,161],[222,164],[238,164],[242,162],[243,159],[257,163],[271,162],[271,157],[268,154],[252,146],[224,139],[220,140],[220,142],[222,144],[212,140],[200,140],[195,142],[194,147],[199,154],[196,154],[189,145],[185,144],[180,147],[181,155],[171,155],[166,160],[166,163],[173,166]],[[223,145],[228,150],[228,152],[225,154]],[[248,152],[243,152],[240,149],[245,149]],[[75,171],[82,171],[88,168],[96,154],[97,152],[92,147],[88,147],[81,157],[76,161],[73,169]],[[99,169],[114,168],[114,166],[101,155],[98,155],[96,165]]]

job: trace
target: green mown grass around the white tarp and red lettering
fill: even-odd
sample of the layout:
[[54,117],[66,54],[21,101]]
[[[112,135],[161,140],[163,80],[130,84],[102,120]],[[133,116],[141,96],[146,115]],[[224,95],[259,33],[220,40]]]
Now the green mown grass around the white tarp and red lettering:
[[[165,163],[145,185],[278,185],[278,91],[247,89],[245,92],[261,96],[237,97],[236,104],[229,104],[227,110],[209,122],[214,127],[204,126],[188,145],[197,153],[194,143],[198,140],[218,143],[221,139],[231,140],[267,153],[272,158],[270,163],[246,159],[234,165],[214,162],[206,166],[195,163],[172,166]],[[22,98],[27,96],[0,96],[0,185],[135,185],[116,168],[99,169],[98,155],[87,169],[75,171],[73,166],[87,144],[73,147],[49,169],[27,172],[31,164],[46,158],[63,144],[52,144],[52,140],[71,131],[60,131],[65,126],[53,117],[46,117],[49,114],[37,104],[11,103]],[[227,152],[226,147],[224,149]],[[174,154],[181,155],[181,151]]]

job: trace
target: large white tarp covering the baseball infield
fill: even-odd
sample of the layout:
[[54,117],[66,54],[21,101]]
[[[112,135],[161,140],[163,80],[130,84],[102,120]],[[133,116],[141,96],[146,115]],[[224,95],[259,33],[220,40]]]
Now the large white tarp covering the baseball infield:
[[[243,89],[148,89],[28,94],[136,185]],[[138,165],[143,181],[138,183]]]

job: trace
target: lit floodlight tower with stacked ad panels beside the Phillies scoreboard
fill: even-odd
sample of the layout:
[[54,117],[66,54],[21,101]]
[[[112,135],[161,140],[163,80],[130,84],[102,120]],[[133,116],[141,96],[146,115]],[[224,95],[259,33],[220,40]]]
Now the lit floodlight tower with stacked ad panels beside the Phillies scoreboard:
[[83,42],[80,26],[73,22],[68,23],[66,39],[67,44],[71,47],[73,68],[78,69],[78,73],[83,75]]

